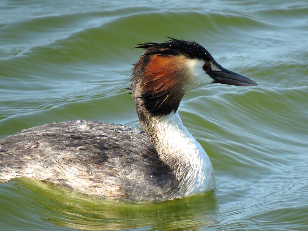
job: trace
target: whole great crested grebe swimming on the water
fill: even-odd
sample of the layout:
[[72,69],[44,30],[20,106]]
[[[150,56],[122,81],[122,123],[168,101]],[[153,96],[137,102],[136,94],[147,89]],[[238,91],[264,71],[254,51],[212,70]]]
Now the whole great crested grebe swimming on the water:
[[215,187],[212,164],[177,109],[209,83],[255,86],[201,45],[143,43],[129,89],[141,127],[97,121],[40,125],[0,140],[0,179],[34,177],[111,199],[172,200]]

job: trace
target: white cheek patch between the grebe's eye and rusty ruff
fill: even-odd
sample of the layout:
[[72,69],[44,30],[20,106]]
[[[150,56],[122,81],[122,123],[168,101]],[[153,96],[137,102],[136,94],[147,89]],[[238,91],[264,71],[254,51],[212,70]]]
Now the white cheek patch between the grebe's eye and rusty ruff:
[[204,61],[200,59],[187,59],[188,70],[190,73],[188,77],[187,90],[192,90],[198,87],[202,87],[206,84],[214,82],[214,79],[205,73],[202,69]]

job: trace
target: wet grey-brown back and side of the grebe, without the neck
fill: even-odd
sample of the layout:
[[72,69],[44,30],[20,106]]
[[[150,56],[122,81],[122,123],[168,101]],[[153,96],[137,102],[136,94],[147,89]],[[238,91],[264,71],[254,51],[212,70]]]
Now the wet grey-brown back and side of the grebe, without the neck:
[[143,131],[97,121],[45,124],[0,140],[0,180],[23,176],[112,199],[161,201],[179,193]]

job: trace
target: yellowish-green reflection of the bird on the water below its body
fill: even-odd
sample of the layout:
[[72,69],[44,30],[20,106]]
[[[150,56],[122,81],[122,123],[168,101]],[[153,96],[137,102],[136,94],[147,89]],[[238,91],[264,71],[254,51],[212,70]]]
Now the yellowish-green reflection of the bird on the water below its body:
[[25,199],[44,211],[40,219],[78,230],[196,230],[214,224],[209,211],[218,208],[213,192],[164,202],[106,201],[32,178],[10,183],[26,188]]

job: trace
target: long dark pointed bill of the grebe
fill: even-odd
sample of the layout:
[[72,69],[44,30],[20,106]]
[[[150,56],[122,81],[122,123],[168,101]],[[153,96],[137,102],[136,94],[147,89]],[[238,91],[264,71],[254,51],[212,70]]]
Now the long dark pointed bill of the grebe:
[[236,86],[257,86],[257,83],[243,75],[239,75],[233,71],[223,69],[222,71],[209,71],[209,76],[215,79],[215,83],[223,83]]

